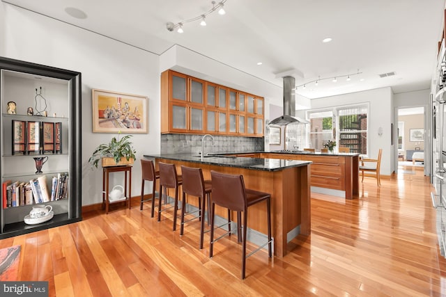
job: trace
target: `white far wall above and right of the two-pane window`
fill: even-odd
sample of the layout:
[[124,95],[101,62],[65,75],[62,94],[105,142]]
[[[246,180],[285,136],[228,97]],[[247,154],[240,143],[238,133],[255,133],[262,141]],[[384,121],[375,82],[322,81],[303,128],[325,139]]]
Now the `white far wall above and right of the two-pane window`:
[[[312,99],[312,109],[322,109],[330,106],[369,103],[369,156],[376,158],[378,150],[383,149],[381,174],[391,175],[394,171],[392,162],[391,123],[394,112],[392,109],[392,89],[379,88],[364,92]],[[300,111],[302,113],[302,111]],[[383,127],[383,135],[378,136],[379,127]]]

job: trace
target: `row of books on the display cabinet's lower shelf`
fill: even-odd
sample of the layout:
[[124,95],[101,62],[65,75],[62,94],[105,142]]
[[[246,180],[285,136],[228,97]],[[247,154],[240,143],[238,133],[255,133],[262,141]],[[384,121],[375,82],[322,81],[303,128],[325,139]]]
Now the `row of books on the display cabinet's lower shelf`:
[[51,192],[48,188],[45,175],[29,182],[7,180],[2,184],[3,209],[68,198],[68,172],[52,177]]

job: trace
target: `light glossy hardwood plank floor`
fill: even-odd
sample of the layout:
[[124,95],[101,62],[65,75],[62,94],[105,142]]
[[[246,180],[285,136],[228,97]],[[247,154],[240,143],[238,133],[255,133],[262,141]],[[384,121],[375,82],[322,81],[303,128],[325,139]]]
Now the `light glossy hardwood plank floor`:
[[359,199],[314,195],[311,236],[294,239],[283,259],[249,257],[245,280],[236,236],[209,259],[198,222],[180,237],[168,214],[150,217],[150,203],[93,211],[0,248],[21,244],[20,280],[47,280],[49,296],[445,296],[429,179],[422,168],[401,170],[380,188],[366,177]]

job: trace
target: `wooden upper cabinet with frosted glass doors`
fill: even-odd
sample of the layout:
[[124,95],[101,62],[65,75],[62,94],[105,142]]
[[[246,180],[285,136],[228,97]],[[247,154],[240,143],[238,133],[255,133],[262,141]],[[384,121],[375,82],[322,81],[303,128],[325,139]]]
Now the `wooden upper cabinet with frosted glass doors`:
[[161,133],[263,136],[263,97],[167,70],[161,74]]

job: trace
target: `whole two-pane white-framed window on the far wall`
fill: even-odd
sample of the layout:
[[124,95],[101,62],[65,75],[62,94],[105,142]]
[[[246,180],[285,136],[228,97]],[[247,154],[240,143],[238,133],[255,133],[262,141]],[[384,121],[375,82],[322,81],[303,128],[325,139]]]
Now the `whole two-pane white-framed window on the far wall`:
[[368,113],[369,104],[308,111],[309,147],[321,150],[327,141],[335,140],[337,147],[367,154]]

